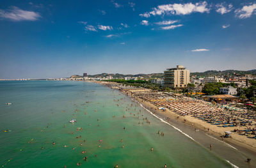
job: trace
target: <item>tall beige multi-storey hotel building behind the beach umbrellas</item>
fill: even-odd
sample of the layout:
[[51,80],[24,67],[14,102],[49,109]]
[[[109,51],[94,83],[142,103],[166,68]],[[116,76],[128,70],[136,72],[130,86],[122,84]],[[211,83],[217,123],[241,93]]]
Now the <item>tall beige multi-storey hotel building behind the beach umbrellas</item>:
[[173,89],[187,88],[189,75],[189,70],[182,65],[177,65],[177,68],[168,68],[164,71],[164,86]]

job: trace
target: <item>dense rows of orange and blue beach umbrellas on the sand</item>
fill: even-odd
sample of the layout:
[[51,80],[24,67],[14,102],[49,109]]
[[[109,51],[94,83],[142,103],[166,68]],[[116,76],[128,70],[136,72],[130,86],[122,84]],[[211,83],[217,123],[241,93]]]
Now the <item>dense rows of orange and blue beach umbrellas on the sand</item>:
[[142,96],[143,100],[150,102],[159,109],[169,109],[179,116],[192,116],[211,125],[230,128],[232,132],[246,135],[256,139],[256,112],[244,109],[227,109],[223,105],[214,105],[189,97],[170,95]]

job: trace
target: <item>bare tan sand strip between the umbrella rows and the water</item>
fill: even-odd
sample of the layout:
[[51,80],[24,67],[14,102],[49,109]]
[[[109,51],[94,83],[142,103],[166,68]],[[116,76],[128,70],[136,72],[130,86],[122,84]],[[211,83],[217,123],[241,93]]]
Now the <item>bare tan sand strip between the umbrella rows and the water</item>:
[[[104,84],[109,86],[109,82],[100,82],[100,81],[93,81],[99,84]],[[113,83],[112,83],[113,84]],[[118,89],[118,87],[113,87],[113,89]],[[232,146],[236,146],[237,148],[252,153],[252,155],[256,155],[256,140],[246,137],[245,135],[239,135],[234,132],[232,137],[222,139],[221,136],[225,135],[225,132],[230,132],[234,129],[242,129],[240,126],[234,126],[232,128],[227,127],[219,127],[216,125],[212,125],[211,123],[207,123],[202,121],[201,119],[195,118],[193,116],[181,116],[170,109],[165,109],[165,111],[159,110],[156,105],[150,103],[148,101],[143,100],[140,96],[135,96],[132,91],[127,90],[120,90],[127,96],[134,98],[138,102],[140,102],[144,107],[149,109],[150,111],[154,112],[157,116],[160,116],[164,120],[172,123],[172,121],[178,121],[179,123],[184,123],[185,125],[191,126],[193,129],[200,129],[201,131],[205,132],[205,134],[211,135],[216,139],[226,142]],[[244,128],[246,128],[244,126]]]

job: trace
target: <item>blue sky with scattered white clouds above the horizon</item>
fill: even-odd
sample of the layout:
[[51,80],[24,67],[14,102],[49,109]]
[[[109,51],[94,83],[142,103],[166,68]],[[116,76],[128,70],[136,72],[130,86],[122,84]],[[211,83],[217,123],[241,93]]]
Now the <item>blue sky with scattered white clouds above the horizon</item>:
[[0,79],[256,69],[256,1],[0,3]]

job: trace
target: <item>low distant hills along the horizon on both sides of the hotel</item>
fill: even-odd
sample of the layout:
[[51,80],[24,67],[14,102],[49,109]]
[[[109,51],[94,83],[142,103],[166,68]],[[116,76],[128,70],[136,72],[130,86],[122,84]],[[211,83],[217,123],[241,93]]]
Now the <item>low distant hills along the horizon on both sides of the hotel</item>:
[[[197,76],[197,77],[207,77],[207,76],[239,76],[239,75],[256,75],[256,69],[255,70],[248,70],[248,71],[241,71],[241,70],[224,70],[224,71],[216,71],[216,70],[208,70],[205,72],[191,72],[191,76]],[[145,79],[149,78],[161,78],[163,79],[164,73],[150,73],[150,74],[145,74],[145,73],[139,73],[136,75],[132,74],[120,74],[120,73],[101,73],[101,74],[96,74],[96,75],[88,75],[88,77],[108,77],[111,76],[113,78],[124,78],[124,77],[143,77]],[[71,77],[73,78],[79,78],[83,77],[81,75],[72,75]]]

